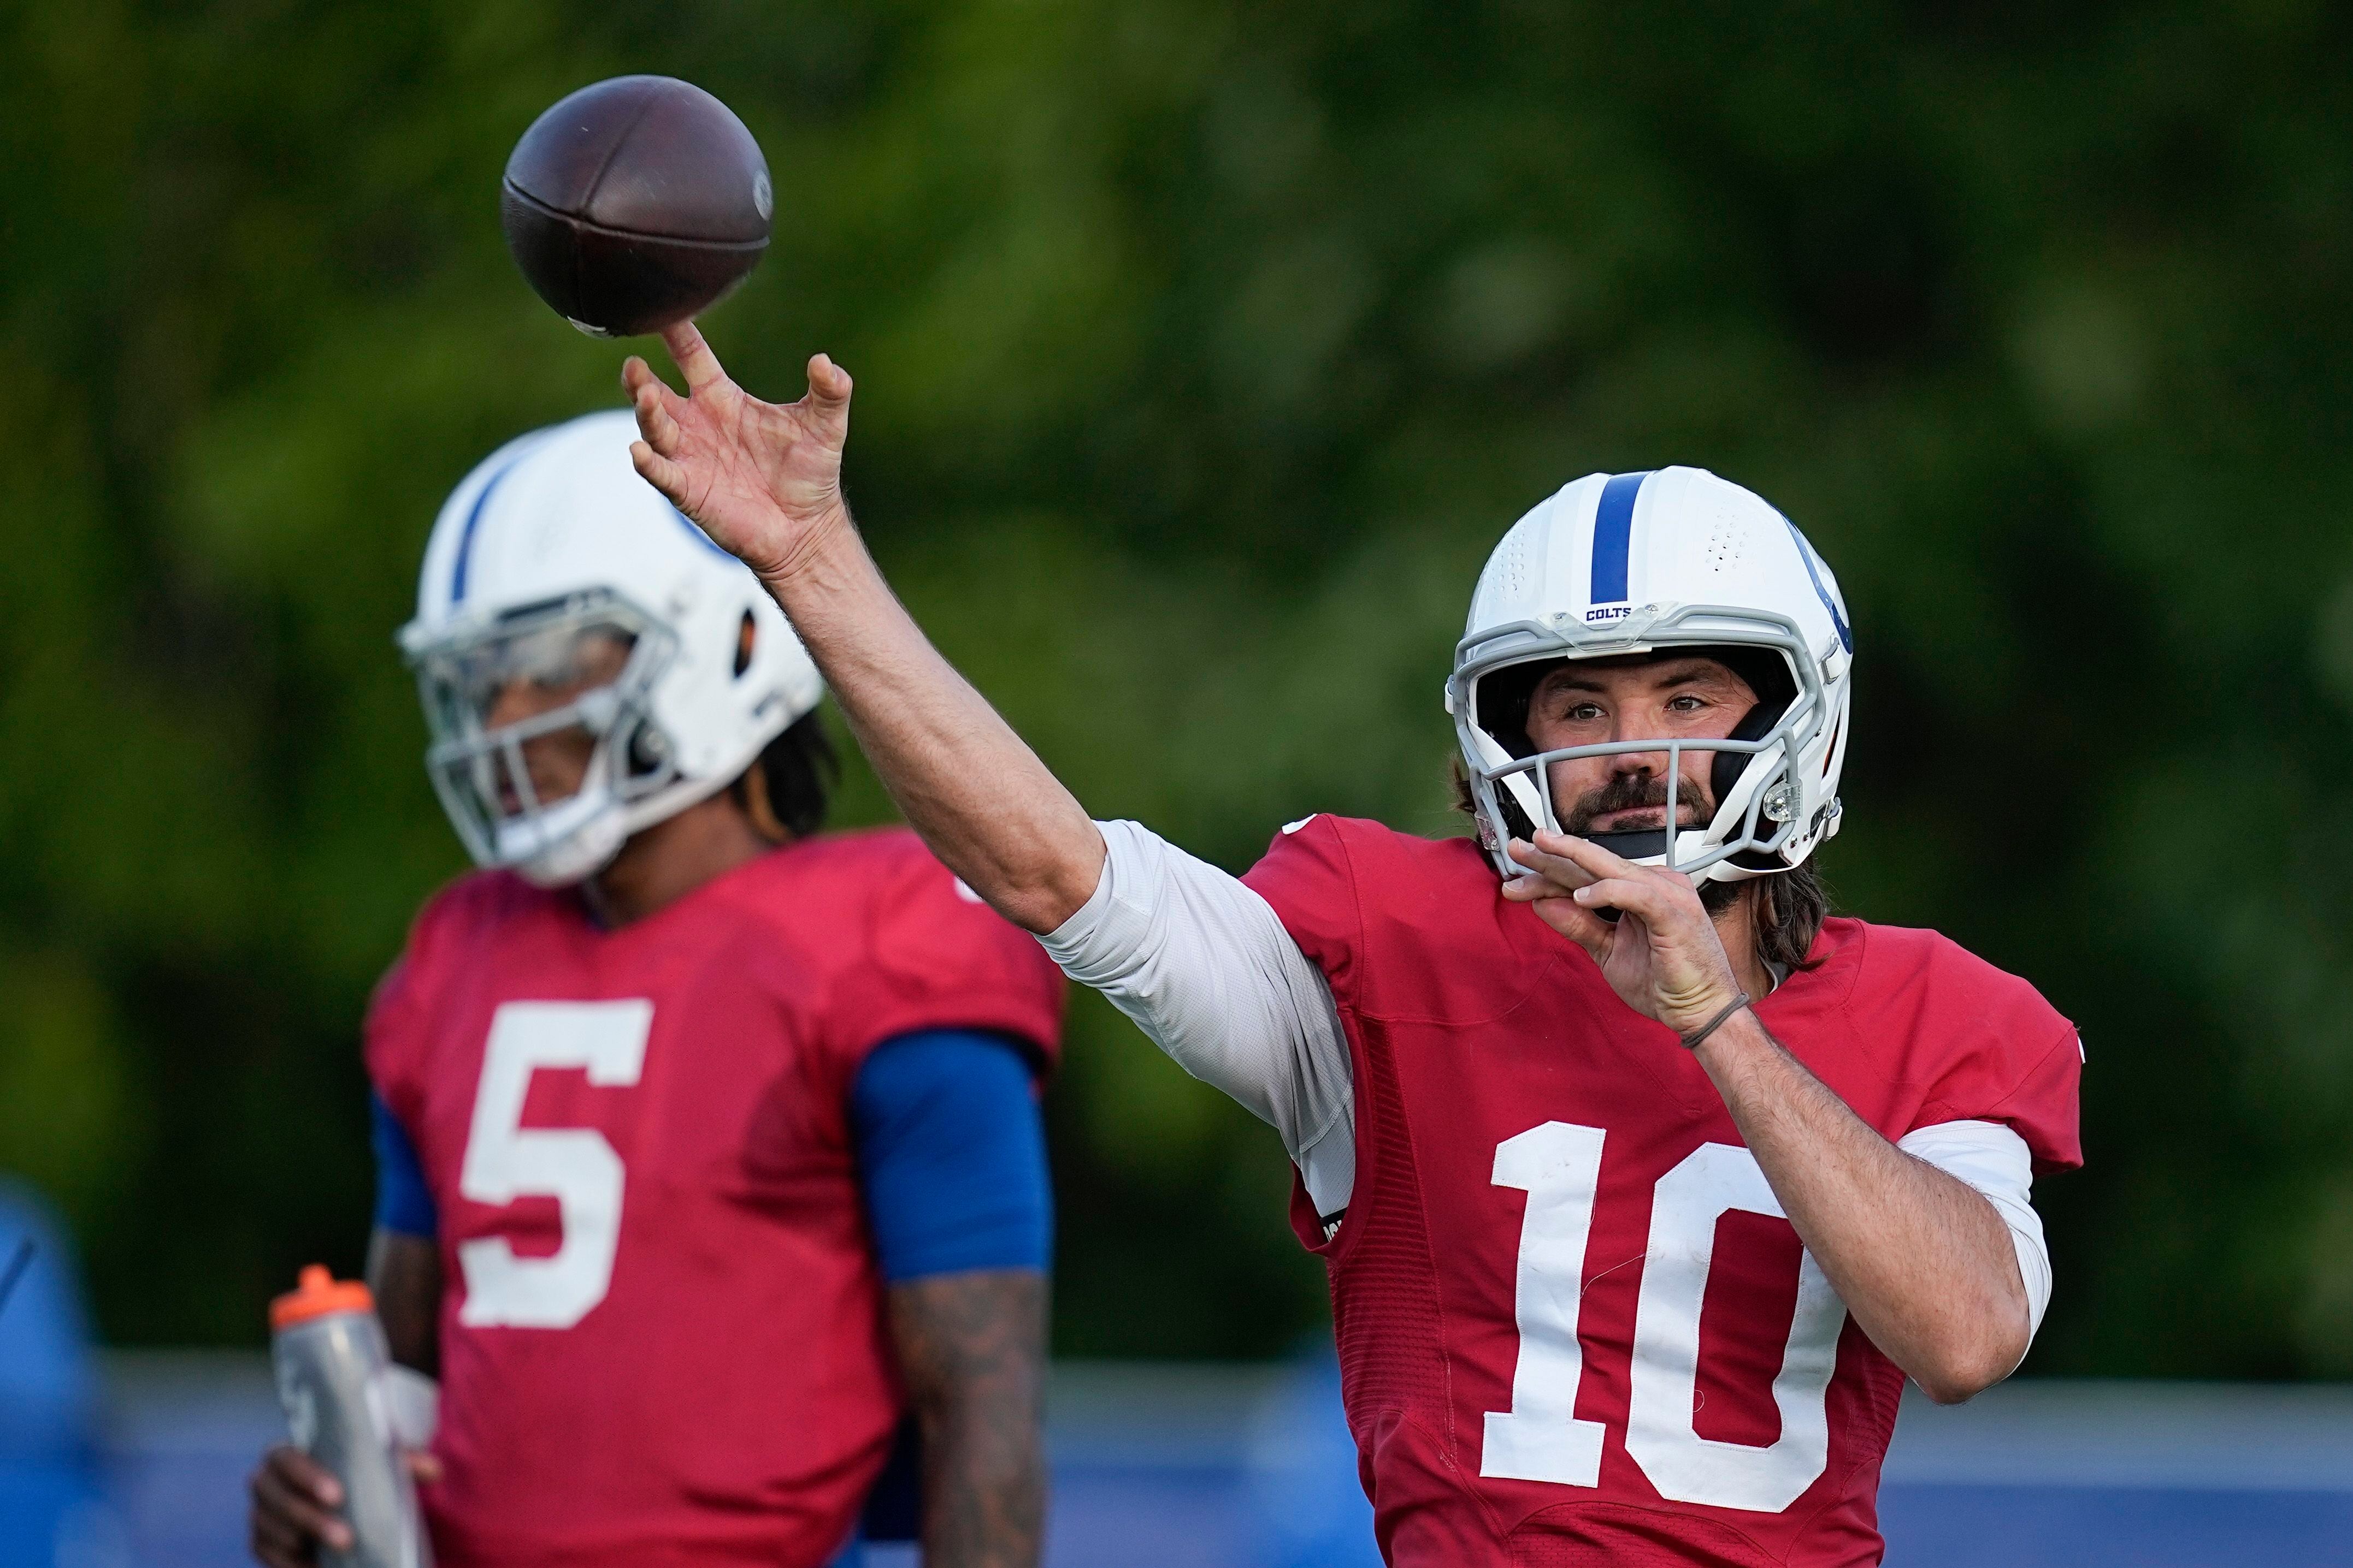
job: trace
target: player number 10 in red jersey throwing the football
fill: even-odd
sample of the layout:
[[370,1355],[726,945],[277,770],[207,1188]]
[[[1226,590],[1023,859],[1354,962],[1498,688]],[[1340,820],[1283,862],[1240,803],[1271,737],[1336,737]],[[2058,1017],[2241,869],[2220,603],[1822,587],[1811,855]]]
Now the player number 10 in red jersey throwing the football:
[[[1513,527],[1447,682],[1480,842],[1306,818],[1233,879],[1092,823],[892,599],[849,378],[762,404],[692,327],[638,470],[793,616],[918,832],[1275,1124],[1393,1563],[1875,1563],[1906,1373],[2005,1378],[2078,1041],[1927,931],[1826,919],[1854,649],[1715,475]],[[1666,865],[1664,865],[1666,863]]]

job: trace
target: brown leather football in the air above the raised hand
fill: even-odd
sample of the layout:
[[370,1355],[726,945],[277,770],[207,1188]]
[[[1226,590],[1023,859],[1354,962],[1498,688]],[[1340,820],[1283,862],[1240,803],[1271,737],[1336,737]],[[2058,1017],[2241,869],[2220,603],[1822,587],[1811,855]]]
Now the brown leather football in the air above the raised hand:
[[616,75],[532,120],[506,160],[515,266],[593,336],[661,331],[760,263],[774,188],[744,122],[692,82]]

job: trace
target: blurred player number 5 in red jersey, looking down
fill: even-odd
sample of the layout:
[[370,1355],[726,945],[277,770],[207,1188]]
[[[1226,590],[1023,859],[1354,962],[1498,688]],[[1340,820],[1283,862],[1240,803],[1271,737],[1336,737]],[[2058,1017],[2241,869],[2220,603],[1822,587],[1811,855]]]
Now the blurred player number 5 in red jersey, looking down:
[[[485,867],[367,1020],[367,1274],[440,1378],[435,1552],[849,1559],[911,1415],[925,1563],[1028,1568],[1061,976],[915,835],[819,837],[819,675],[633,435],[482,463],[402,632]],[[252,1493],[264,1563],[348,1537],[292,1448]]]

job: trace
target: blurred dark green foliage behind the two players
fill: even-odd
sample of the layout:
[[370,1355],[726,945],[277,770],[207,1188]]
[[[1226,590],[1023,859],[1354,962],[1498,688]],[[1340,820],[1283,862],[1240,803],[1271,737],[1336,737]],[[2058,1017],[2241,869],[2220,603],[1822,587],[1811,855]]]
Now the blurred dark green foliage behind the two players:
[[[1099,813],[1442,832],[1478,562],[1704,463],[1859,628],[1845,907],[2085,1027],[2049,1373],[2353,1373],[2353,28],[2235,5],[235,0],[0,12],[0,1166],[118,1340],[358,1262],[355,1025],[461,865],[391,632],[614,402],[496,230],[562,92],[769,153],[708,320]],[[854,773],[842,816],[887,813]],[[1320,1314],[1275,1140],[1082,997],[1061,1345]]]

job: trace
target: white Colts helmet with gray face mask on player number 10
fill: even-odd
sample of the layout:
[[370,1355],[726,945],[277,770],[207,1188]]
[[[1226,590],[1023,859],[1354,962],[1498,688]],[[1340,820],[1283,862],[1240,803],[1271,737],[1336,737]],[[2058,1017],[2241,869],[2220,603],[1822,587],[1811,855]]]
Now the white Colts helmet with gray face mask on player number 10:
[[[1562,658],[1706,649],[1758,693],[1729,741],[1631,741],[1537,752],[1527,701]],[[1471,595],[1447,712],[1471,771],[1480,844],[1504,853],[1560,830],[1551,762],[1668,752],[1668,825],[1682,752],[1713,752],[1715,813],[1675,832],[1595,832],[1598,844],[1694,882],[1800,865],[1838,832],[1854,637],[1838,578],[1793,522],[1704,468],[1586,475],[1513,524]]]

